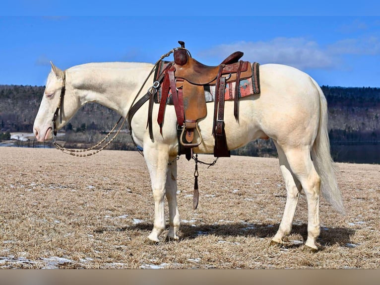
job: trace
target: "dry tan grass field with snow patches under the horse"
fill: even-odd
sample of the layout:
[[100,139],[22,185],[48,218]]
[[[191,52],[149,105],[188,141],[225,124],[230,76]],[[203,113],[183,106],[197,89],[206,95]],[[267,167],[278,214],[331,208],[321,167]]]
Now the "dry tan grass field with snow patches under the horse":
[[162,242],[148,245],[153,198],[139,153],[78,158],[0,147],[0,268],[379,268],[380,165],[337,164],[347,214],[321,199],[313,254],[303,251],[305,195],[286,246],[268,247],[286,197],[277,159],[233,156],[209,169],[199,165],[195,211],[194,162],[181,157],[178,164],[180,241],[165,242],[164,232]]

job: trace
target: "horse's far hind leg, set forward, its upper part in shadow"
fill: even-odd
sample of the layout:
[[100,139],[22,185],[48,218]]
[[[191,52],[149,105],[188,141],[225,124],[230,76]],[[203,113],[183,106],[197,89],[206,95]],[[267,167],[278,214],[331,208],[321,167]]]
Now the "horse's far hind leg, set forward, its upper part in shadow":
[[302,186],[301,183],[295,178],[290,169],[288,160],[285,156],[284,151],[277,143],[277,153],[280,162],[280,170],[285,181],[285,187],[287,191],[286,204],[284,214],[277,233],[270,242],[270,245],[282,244],[283,237],[288,235],[292,230],[292,224],[294,219],[294,214],[296,212],[296,207],[298,203],[298,198],[300,196]]

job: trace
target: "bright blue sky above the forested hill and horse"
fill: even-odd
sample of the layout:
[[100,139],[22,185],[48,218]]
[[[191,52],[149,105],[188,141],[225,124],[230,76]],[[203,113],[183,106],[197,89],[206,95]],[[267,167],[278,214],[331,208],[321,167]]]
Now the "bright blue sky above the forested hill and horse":
[[[18,6],[12,2],[0,12],[0,84],[44,85],[49,61],[61,69],[89,62],[154,63],[182,40],[191,55],[207,65],[240,50],[244,60],[290,65],[309,73],[319,85],[380,87],[380,16],[374,15],[380,11],[378,3],[367,11],[363,5],[319,6],[317,16],[311,16],[310,8],[285,4],[260,7],[259,13],[252,3],[232,16],[220,16],[224,13],[206,13],[204,4],[201,12],[193,5],[179,16],[171,7],[157,7],[158,2],[141,2],[150,7],[148,12],[136,4],[110,4],[111,9],[104,10],[97,1],[87,6],[77,1],[72,12],[62,2],[40,9],[29,2],[45,1],[20,1]],[[333,13],[334,7],[340,12]],[[165,13],[154,15],[156,9]]]

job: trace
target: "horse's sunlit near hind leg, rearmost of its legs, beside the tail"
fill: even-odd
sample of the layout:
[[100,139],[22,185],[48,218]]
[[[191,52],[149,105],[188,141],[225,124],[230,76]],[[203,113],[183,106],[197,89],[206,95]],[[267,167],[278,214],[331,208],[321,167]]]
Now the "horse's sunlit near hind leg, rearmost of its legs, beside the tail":
[[316,251],[315,244],[320,232],[319,228],[319,186],[320,178],[310,155],[309,146],[299,146],[285,150],[290,169],[300,181],[308,202],[308,239],[306,249]]

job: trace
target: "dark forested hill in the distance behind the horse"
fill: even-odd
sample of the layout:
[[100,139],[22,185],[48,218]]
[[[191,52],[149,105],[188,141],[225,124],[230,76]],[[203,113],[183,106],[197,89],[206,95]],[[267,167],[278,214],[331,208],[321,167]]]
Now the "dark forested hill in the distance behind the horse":
[[[0,85],[0,133],[32,132],[44,86]],[[328,129],[334,142],[380,140],[380,88],[321,86],[328,102]],[[81,108],[68,126],[72,130],[105,131],[119,115],[101,105]]]

